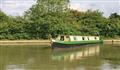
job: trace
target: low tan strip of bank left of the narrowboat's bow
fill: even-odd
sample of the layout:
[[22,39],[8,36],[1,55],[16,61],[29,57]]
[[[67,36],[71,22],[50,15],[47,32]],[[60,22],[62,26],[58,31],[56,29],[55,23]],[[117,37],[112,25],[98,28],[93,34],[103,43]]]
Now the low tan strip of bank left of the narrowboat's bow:
[[50,40],[0,40],[0,45],[50,45]]

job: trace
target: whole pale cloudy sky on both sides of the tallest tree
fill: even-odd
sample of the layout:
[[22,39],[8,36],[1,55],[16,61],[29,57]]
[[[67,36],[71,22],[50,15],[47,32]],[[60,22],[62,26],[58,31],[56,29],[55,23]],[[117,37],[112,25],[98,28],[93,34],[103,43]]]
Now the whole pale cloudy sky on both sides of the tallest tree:
[[[0,0],[0,9],[8,15],[23,15],[35,0]],[[100,10],[104,16],[108,17],[111,13],[120,14],[120,0],[70,0],[70,8],[78,11],[88,9]]]

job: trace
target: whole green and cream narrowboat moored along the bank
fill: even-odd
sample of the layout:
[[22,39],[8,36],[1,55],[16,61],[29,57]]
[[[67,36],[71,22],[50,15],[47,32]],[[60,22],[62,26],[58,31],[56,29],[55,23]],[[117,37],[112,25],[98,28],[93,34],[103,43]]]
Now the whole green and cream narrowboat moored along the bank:
[[99,36],[75,36],[75,35],[59,35],[55,39],[51,39],[52,48],[55,47],[73,47],[88,44],[103,43]]

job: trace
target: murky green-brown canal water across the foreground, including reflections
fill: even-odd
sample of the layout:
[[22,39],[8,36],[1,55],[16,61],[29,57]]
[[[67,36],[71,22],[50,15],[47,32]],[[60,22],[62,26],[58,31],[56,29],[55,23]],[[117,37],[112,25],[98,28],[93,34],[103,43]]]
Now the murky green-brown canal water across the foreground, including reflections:
[[0,70],[120,70],[120,45],[0,46]]

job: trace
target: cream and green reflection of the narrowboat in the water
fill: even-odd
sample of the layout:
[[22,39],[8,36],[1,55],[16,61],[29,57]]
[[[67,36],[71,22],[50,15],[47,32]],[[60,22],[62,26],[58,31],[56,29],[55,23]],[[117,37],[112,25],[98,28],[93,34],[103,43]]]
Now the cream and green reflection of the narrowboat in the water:
[[99,55],[100,46],[84,46],[79,48],[64,48],[64,49],[54,49],[52,59],[53,60],[64,60],[64,61],[74,61],[81,60],[89,56]]

